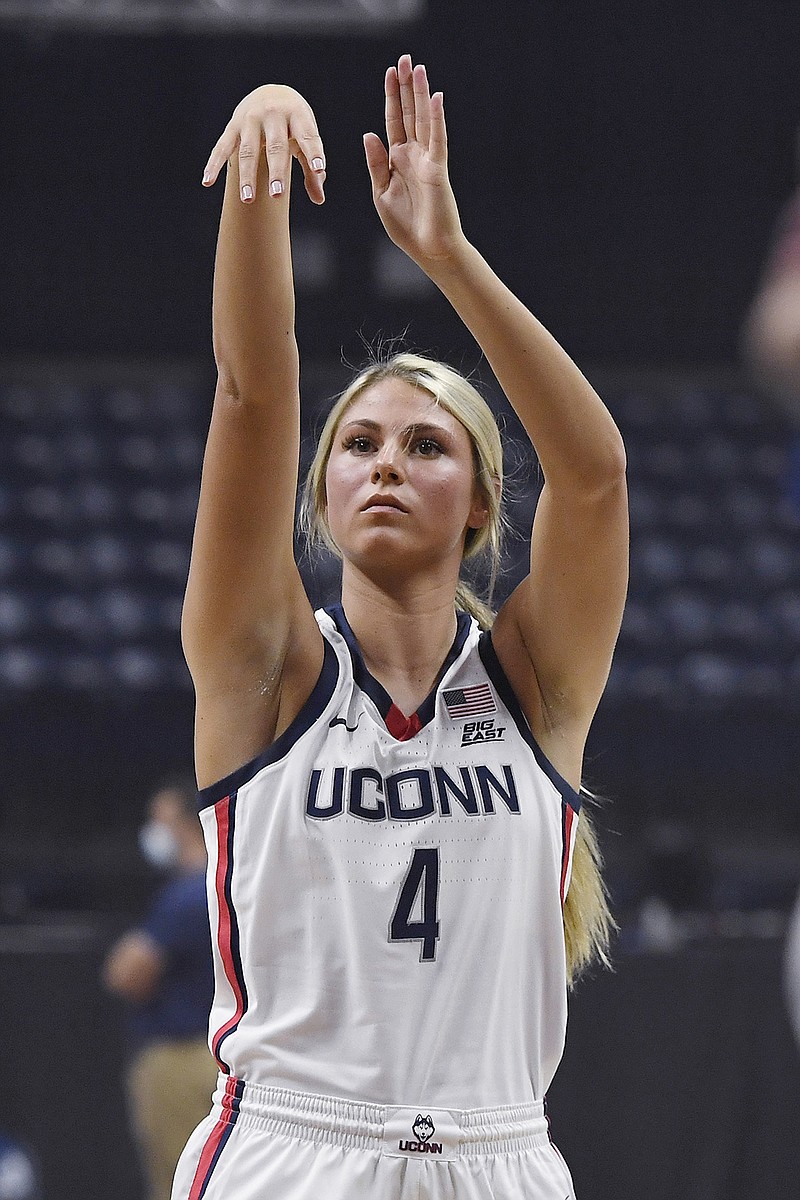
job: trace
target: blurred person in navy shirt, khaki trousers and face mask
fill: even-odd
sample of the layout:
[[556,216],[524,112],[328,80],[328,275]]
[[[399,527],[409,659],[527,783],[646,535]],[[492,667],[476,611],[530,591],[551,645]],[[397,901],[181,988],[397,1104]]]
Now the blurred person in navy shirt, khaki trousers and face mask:
[[103,982],[128,1004],[127,1092],[149,1200],[168,1200],[175,1163],[209,1110],[216,1067],[207,1048],[213,990],[206,853],[193,781],[161,786],[139,844],[170,872],[146,920],[113,947]]

